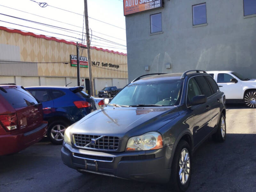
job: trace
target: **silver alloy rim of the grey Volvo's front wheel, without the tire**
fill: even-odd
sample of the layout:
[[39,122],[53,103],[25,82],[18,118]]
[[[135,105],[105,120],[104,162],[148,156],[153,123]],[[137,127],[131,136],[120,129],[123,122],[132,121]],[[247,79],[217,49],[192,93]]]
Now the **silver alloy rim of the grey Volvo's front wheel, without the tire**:
[[179,177],[180,177],[180,182],[182,185],[185,185],[188,181],[189,177],[189,171],[190,171],[190,158],[189,158],[189,153],[188,149],[183,148],[180,153],[180,162],[179,162]]

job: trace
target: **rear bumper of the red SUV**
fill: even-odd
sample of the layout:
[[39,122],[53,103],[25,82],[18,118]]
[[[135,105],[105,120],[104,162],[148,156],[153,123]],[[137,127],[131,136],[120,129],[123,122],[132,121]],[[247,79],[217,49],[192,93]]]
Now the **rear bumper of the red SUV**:
[[15,132],[8,135],[0,135],[0,155],[19,152],[36,142],[40,141],[47,132],[47,122],[42,123],[36,129],[20,133]]

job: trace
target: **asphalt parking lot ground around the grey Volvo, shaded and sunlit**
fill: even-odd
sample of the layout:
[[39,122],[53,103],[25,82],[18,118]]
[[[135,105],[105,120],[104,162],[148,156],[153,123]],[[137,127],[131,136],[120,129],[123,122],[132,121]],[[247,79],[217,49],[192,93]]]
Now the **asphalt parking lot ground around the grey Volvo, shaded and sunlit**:
[[[227,106],[227,139],[206,140],[193,155],[188,192],[256,191],[256,109]],[[59,145],[47,140],[0,156],[0,191],[170,191],[168,185],[81,174],[61,161]]]

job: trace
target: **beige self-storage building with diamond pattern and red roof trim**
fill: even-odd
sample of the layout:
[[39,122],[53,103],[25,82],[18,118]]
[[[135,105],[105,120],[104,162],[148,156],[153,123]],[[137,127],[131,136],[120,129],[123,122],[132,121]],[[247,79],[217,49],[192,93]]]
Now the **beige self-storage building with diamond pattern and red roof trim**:
[[[86,49],[80,56],[80,82],[89,92]],[[71,66],[72,59],[76,59],[74,42],[0,27],[0,84],[76,86],[77,68]],[[92,47],[91,60],[94,92],[128,84],[126,54]]]

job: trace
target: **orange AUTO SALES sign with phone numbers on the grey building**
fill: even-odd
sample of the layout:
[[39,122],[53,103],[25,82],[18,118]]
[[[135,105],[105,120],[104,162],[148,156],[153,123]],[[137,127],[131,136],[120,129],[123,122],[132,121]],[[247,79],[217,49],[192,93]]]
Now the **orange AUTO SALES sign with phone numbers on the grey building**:
[[162,0],[124,0],[124,15],[163,7]]

